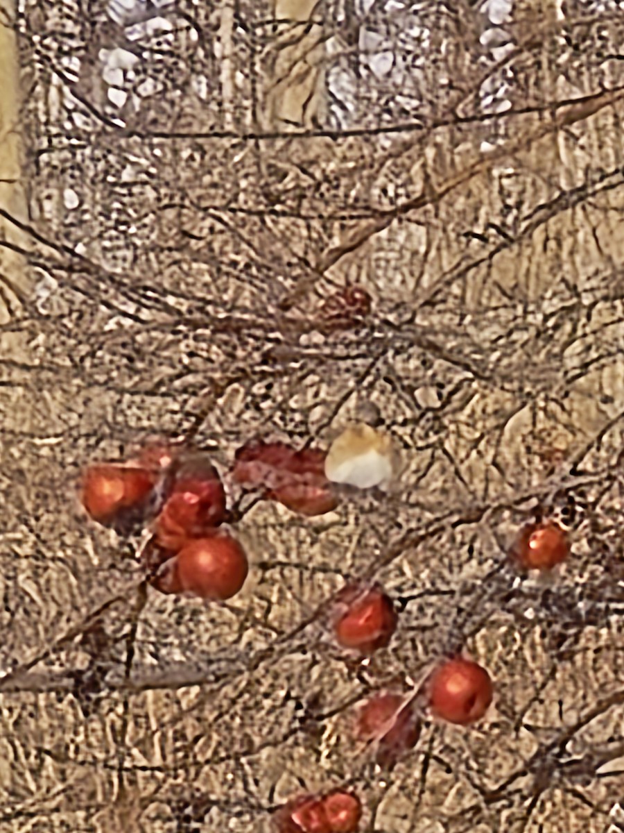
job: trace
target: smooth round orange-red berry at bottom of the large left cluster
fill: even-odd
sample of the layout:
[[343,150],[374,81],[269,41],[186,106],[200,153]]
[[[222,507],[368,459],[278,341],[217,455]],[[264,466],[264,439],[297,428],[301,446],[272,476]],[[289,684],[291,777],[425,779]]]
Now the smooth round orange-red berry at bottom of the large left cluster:
[[245,584],[247,556],[239,542],[226,534],[198,538],[176,556],[182,590],[203,599],[230,599]]

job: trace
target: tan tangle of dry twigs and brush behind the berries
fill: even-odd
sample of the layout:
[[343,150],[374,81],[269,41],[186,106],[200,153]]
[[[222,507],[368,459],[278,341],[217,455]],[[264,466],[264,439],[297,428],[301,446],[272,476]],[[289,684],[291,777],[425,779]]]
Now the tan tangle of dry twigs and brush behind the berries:
[[[492,35],[467,0],[111,8],[0,27],[0,831],[255,833],[342,782],[377,833],[624,829],[624,12],[516,2]],[[348,280],[373,316],[323,335]],[[394,491],[255,507],[224,606],[146,589],[136,536],[77,506],[81,467],[146,434],[226,477],[250,436],[326,445],[377,410]],[[537,505],[571,528],[550,580],[506,557]],[[327,626],[355,576],[403,611],[364,665]],[[376,770],[353,702],[460,648],[487,718],[425,714]]]

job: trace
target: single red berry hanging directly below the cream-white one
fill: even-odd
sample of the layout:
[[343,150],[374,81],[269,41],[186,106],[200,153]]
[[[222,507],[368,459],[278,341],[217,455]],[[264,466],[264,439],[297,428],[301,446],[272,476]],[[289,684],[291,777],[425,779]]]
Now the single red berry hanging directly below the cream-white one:
[[392,601],[384,592],[371,589],[347,588],[339,601],[346,611],[334,621],[334,633],[339,645],[362,654],[370,654],[388,645],[397,626],[398,616]]

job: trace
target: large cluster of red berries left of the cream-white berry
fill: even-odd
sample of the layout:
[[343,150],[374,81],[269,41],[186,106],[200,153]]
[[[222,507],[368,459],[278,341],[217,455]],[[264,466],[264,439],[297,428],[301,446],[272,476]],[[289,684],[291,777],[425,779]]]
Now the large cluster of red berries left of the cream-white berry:
[[[324,454],[280,442],[251,441],[231,471],[240,486],[312,516],[337,506],[324,476]],[[201,451],[148,445],[126,463],[97,463],[82,480],[82,504],[95,521],[149,521],[143,563],[164,593],[224,601],[240,591],[247,556],[222,526],[230,519],[218,471]]]

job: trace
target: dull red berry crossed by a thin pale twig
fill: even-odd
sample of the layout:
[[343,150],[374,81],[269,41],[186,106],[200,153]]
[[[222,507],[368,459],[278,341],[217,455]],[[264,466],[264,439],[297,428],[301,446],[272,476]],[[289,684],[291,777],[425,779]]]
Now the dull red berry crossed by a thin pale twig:
[[364,740],[377,742],[375,759],[379,764],[392,766],[416,745],[420,723],[404,696],[377,694],[360,707],[355,731]]

